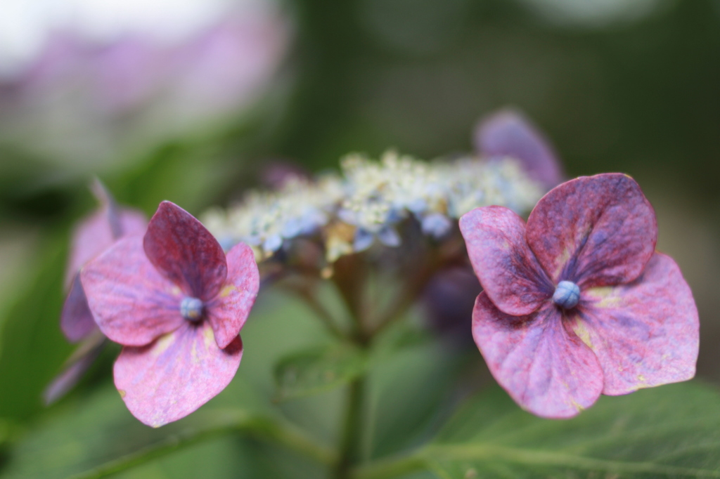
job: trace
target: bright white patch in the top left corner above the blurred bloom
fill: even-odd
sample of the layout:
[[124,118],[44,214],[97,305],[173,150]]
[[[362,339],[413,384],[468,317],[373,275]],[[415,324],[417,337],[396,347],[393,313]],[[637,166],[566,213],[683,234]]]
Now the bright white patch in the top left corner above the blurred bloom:
[[105,43],[142,32],[175,43],[254,0],[0,0],[0,77],[30,63],[53,31]]

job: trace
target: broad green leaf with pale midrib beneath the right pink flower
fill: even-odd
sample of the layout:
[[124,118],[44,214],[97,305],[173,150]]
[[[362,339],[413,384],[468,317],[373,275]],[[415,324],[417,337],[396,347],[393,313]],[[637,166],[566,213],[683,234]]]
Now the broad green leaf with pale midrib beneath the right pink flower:
[[539,419],[500,388],[472,399],[435,441],[356,478],[720,478],[720,394],[682,383],[603,396],[567,421]]

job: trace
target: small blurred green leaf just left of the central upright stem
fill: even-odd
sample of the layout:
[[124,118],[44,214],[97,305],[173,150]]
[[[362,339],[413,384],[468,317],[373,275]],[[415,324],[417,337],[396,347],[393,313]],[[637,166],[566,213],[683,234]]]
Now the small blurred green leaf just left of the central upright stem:
[[367,365],[366,353],[347,343],[294,352],[275,367],[276,398],[282,401],[330,391],[358,378]]

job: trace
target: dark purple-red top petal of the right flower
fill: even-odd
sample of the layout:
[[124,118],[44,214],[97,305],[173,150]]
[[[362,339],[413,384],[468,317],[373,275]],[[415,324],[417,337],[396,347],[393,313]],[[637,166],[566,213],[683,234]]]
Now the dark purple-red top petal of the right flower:
[[526,237],[555,283],[628,283],[655,250],[655,213],[627,175],[582,176],[554,188],[528,218]]

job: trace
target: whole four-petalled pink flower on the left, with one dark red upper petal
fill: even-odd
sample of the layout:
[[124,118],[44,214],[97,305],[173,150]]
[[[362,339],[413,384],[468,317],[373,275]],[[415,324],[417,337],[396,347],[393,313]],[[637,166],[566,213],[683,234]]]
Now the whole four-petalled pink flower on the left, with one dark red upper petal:
[[125,346],[115,386],[140,421],[176,421],[228,386],[259,287],[250,247],[226,257],[197,219],[163,201],[144,237],[120,239],[81,281],[100,330]]

